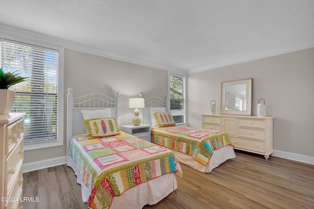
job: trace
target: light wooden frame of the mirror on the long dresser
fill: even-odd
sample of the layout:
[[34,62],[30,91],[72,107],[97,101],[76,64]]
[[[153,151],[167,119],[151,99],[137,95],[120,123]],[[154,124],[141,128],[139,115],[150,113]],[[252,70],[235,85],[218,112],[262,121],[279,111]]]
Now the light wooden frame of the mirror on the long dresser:
[[[221,82],[221,103],[220,103],[220,114],[221,115],[252,115],[252,78],[242,80],[231,80]],[[226,86],[246,84],[246,110],[226,110],[225,109],[225,98],[226,98]]]

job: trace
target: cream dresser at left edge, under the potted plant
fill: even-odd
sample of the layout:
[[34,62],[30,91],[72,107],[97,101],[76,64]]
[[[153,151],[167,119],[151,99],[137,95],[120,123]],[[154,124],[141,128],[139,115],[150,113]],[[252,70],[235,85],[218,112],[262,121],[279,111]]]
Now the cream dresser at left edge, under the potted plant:
[[0,114],[0,208],[22,209],[23,116]]

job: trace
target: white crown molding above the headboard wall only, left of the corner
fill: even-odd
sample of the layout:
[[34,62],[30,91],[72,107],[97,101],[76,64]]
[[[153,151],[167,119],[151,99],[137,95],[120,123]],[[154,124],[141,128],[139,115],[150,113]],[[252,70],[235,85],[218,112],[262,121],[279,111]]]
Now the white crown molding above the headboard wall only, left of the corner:
[[77,44],[70,41],[65,41],[62,39],[54,38],[51,36],[43,35],[40,33],[32,32],[29,30],[20,29],[17,27],[6,26],[0,24],[0,38],[5,38],[19,42],[30,42],[35,43],[34,45],[38,45],[40,43],[44,43],[47,46],[47,43],[51,46],[59,46],[62,48],[75,50],[78,52],[90,53],[98,56],[103,56],[106,58],[116,59],[124,62],[129,62],[137,65],[143,65],[147,67],[157,68],[166,71],[178,72],[186,74],[186,70],[175,68],[171,66],[162,65],[159,63],[151,62],[148,60],[138,59],[131,56],[126,56],[118,53],[108,52],[102,49],[96,49],[93,47],[88,47],[82,44]]

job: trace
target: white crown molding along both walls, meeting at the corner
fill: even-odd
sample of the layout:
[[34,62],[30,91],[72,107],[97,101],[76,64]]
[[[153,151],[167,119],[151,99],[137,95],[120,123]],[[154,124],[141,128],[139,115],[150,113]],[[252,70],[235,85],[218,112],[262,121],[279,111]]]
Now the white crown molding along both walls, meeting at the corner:
[[106,58],[111,58],[111,59],[115,59],[119,61],[129,62],[129,63],[133,63],[137,65],[143,65],[143,66],[157,68],[157,69],[171,71],[171,72],[177,72],[177,73],[185,74],[185,75],[212,70],[212,69],[225,67],[229,65],[239,64],[243,62],[248,62],[252,60],[262,59],[262,58],[266,58],[270,56],[276,56],[276,55],[280,55],[284,53],[305,50],[305,49],[314,47],[312,46],[313,44],[309,45],[308,43],[305,43],[303,45],[298,45],[298,46],[287,46],[285,49],[282,49],[282,50],[277,50],[273,52],[264,52],[263,54],[261,53],[251,54],[250,56],[246,56],[246,57],[238,57],[235,59],[227,60],[225,62],[212,63],[212,64],[202,66],[199,68],[184,70],[181,68],[175,68],[175,67],[151,62],[148,60],[138,59],[135,57],[126,56],[126,55],[122,55],[118,53],[108,52],[102,49],[97,49],[97,48],[85,46],[82,44],[77,44],[74,42],[65,41],[65,40],[54,38],[51,36],[39,34],[33,31],[24,30],[24,29],[12,27],[12,26],[6,26],[2,24],[0,24],[0,38],[5,38],[9,40],[13,39],[14,41],[20,41],[20,42],[29,42],[30,44],[34,44],[34,45],[38,45],[42,43],[44,44],[45,47],[49,47],[47,46],[47,44],[49,44],[52,48],[55,46],[58,46],[60,48],[66,48],[66,49],[75,50],[78,52],[94,54],[94,55],[103,56]]

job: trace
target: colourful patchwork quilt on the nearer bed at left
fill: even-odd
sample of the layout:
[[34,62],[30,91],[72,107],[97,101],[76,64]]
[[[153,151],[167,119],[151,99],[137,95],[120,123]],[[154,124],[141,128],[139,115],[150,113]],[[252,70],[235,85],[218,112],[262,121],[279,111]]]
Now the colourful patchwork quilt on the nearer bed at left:
[[90,189],[90,208],[109,208],[114,196],[164,174],[182,177],[173,152],[121,131],[121,134],[88,139],[74,135],[69,155]]

